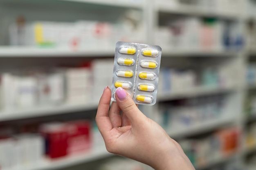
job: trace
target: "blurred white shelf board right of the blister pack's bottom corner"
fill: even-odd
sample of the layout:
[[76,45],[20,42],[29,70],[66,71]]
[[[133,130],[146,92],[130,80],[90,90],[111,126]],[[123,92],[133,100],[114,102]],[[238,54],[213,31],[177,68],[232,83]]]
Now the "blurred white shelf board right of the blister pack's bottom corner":
[[212,95],[212,94],[222,94],[228,93],[237,90],[238,87],[194,87],[191,89],[184,89],[180,92],[173,92],[171,94],[159,94],[157,96],[158,101],[166,101],[166,100],[177,100],[181,98],[191,98],[191,97],[198,97],[198,96],[205,96],[205,95]]

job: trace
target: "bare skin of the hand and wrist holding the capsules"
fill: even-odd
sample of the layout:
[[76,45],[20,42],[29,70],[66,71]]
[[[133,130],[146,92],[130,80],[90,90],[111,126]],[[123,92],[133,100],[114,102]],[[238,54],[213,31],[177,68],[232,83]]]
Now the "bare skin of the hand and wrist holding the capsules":
[[106,87],[96,115],[108,152],[140,161],[155,170],[195,170],[181,146],[147,118],[129,95],[115,97],[117,102],[112,102],[109,109],[111,90]]

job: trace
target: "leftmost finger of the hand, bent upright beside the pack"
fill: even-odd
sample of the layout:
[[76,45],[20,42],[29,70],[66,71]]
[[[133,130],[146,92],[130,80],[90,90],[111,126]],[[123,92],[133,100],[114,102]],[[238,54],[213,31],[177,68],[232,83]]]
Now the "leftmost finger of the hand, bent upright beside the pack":
[[99,106],[96,114],[96,123],[101,132],[103,138],[107,136],[107,133],[112,129],[110,118],[108,117],[109,105],[111,99],[111,90],[106,87],[101,99],[99,100]]

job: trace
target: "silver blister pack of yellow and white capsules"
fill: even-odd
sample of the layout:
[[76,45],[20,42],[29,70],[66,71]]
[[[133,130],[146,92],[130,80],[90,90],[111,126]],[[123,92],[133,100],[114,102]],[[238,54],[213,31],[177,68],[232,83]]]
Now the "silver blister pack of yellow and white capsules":
[[117,42],[112,79],[112,101],[122,87],[136,104],[154,105],[162,48],[156,45]]

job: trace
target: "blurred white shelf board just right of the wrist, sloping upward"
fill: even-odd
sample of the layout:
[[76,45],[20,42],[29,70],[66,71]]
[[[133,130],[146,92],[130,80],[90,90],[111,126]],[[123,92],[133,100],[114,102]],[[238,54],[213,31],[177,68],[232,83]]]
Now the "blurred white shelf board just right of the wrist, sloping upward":
[[171,130],[166,130],[171,138],[184,138],[188,135],[199,135],[208,131],[212,131],[221,126],[232,124],[236,122],[237,119],[234,117],[230,118],[216,118],[209,121],[202,121],[200,124],[195,124],[191,126],[181,126],[179,128],[172,128]]

